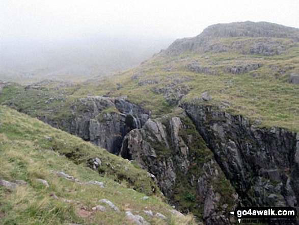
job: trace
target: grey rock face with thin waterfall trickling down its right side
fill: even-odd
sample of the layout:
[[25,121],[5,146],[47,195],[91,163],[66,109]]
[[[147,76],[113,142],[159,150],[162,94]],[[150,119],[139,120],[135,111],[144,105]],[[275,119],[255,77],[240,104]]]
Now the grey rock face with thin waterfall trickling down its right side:
[[71,111],[72,116],[68,120],[40,119],[116,155],[127,132],[141,128],[148,119],[148,114],[127,102],[125,96],[79,98],[72,103]]

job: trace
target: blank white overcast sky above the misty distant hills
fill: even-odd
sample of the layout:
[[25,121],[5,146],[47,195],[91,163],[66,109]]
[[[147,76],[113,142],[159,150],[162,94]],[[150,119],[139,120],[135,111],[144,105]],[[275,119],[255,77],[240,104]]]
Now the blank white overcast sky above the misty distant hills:
[[299,28],[297,0],[0,0],[0,41],[89,35],[183,38],[215,23]]

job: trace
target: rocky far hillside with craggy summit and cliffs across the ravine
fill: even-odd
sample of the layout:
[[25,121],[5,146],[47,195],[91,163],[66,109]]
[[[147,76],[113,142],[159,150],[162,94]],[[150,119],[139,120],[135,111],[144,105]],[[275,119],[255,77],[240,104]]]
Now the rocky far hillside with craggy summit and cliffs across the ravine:
[[[215,24],[84,83],[0,83],[0,103],[134,160],[183,213],[233,223],[299,201],[299,30]],[[231,199],[231,201],[226,201]]]

